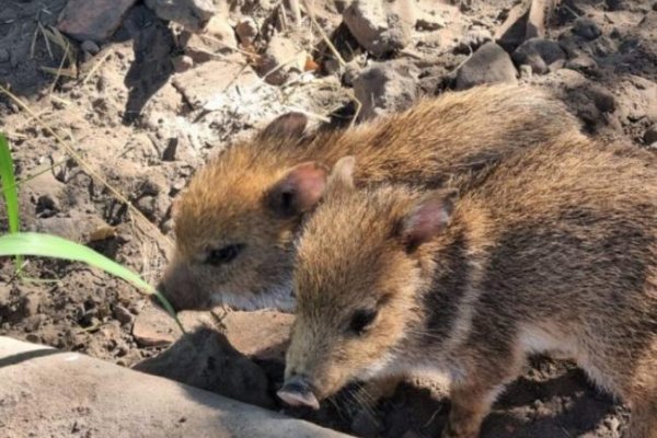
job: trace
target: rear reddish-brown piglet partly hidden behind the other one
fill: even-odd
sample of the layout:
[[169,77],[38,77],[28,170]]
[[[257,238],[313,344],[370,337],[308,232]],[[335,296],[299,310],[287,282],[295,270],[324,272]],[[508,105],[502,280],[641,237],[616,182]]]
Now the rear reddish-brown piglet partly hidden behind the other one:
[[357,158],[359,186],[438,187],[579,129],[560,102],[515,85],[446,93],[353,129],[309,136],[306,122],[281,116],[192,178],[175,204],[176,246],[161,285],[174,307],[291,310],[295,238],[344,155]]

